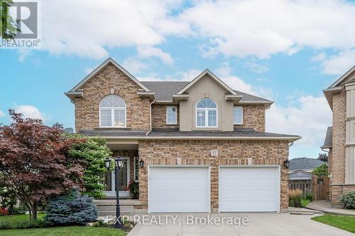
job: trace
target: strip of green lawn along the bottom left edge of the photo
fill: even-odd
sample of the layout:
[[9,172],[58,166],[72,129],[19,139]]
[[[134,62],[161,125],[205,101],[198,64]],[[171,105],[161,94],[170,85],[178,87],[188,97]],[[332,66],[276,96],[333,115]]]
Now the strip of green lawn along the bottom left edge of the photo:
[[0,230],[1,236],[124,236],[126,232],[109,227],[46,227],[42,229]]

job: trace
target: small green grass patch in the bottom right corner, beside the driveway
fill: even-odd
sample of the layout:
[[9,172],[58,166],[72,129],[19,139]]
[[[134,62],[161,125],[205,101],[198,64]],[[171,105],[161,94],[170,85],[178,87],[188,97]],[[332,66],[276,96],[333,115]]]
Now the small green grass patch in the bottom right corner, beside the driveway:
[[355,215],[320,215],[312,220],[355,233]]

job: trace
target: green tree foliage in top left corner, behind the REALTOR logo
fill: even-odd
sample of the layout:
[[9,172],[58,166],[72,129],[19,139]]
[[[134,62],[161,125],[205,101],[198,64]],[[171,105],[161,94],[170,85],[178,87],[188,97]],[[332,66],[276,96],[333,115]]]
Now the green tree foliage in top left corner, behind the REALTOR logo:
[[13,5],[12,0],[0,0],[0,29],[4,40],[11,40],[16,37],[16,33],[20,32],[16,26],[17,20],[10,16],[9,7],[11,5]]

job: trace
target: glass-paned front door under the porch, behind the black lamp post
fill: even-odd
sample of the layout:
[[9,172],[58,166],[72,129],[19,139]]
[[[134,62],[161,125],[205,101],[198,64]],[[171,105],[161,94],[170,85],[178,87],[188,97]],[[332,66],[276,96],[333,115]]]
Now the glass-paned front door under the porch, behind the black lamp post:
[[[129,183],[129,157],[121,157],[124,159],[124,166],[119,169],[119,197],[128,198],[129,191],[126,191],[127,184]],[[104,193],[108,197],[116,197],[116,181],[114,179],[114,171],[107,172],[105,176],[105,183],[107,185],[106,191]]]

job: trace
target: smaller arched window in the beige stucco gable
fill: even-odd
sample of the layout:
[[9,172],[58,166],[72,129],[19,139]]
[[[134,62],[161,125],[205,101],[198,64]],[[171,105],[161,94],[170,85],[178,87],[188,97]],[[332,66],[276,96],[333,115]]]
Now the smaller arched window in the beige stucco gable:
[[217,103],[212,99],[201,99],[196,105],[196,127],[217,127]]

